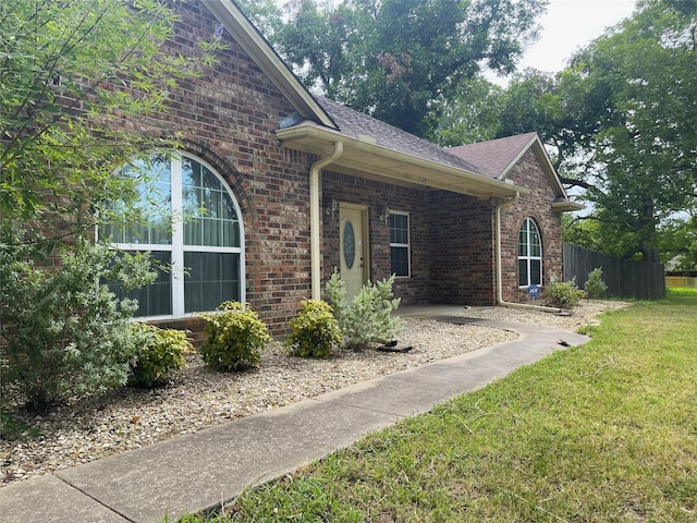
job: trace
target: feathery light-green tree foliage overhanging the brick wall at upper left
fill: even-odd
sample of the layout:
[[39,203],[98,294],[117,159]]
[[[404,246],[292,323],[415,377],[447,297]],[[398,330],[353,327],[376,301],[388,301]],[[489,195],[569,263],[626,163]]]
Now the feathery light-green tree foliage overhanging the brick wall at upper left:
[[0,216],[89,229],[97,215],[86,210],[134,196],[138,181],[113,177],[115,167],[172,143],[133,120],[163,111],[220,40],[197,57],[167,53],[178,16],[164,0],[13,0],[0,20]]

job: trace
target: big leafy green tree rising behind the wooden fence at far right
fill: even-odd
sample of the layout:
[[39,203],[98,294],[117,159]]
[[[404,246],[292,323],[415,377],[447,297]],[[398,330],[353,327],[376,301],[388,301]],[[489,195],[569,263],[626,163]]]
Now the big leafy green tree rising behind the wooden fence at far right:
[[[695,2],[686,2],[694,5]],[[651,0],[574,65],[609,92],[588,199],[608,227],[635,235],[625,256],[659,262],[662,223],[697,199],[697,12]]]

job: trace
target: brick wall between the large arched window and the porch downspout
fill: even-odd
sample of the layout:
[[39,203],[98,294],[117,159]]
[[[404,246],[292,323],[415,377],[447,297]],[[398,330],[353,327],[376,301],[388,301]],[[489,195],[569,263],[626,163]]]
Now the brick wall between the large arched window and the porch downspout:
[[[172,52],[196,56],[219,22],[200,1],[181,12]],[[309,155],[281,147],[274,131],[294,111],[234,41],[219,63],[172,90],[169,112],[129,122],[150,134],[181,133],[183,148],[209,162],[240,204],[246,242],[246,292],[273,333],[282,333],[310,293]],[[174,324],[186,326],[191,321]],[[170,323],[172,325],[172,323]]]

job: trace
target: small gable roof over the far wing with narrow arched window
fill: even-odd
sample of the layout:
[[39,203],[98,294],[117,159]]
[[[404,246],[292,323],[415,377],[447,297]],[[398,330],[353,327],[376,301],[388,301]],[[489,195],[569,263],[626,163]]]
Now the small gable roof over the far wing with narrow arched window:
[[481,174],[494,180],[505,180],[511,169],[529,149],[533,149],[554,192],[555,198],[552,207],[560,211],[583,209],[583,205],[568,200],[557,169],[554,169],[537,133],[518,134],[478,144],[460,145],[448,150],[474,165]]

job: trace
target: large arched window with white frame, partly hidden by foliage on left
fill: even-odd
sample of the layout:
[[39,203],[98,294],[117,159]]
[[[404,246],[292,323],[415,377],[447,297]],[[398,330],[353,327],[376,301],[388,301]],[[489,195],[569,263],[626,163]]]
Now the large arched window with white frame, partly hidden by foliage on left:
[[138,224],[101,227],[123,251],[149,251],[164,267],[132,294],[142,317],[179,317],[245,301],[244,226],[228,184],[201,160],[181,153],[152,156],[121,169],[144,180]]

